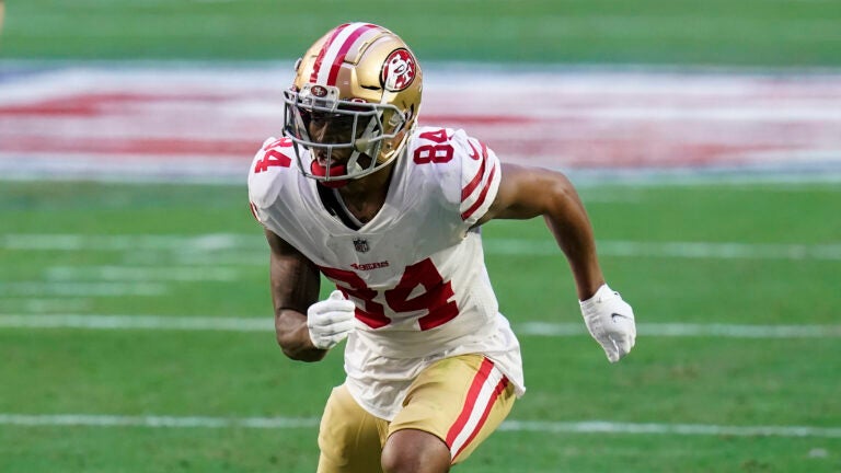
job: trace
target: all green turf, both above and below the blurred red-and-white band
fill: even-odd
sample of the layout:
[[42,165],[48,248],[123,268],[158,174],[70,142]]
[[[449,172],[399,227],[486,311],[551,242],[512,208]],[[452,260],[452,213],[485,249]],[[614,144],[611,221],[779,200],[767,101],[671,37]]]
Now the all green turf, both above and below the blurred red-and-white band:
[[[5,3],[0,72],[19,59],[289,60],[356,20],[429,61],[841,65],[836,0]],[[307,365],[277,347],[244,178],[2,177],[0,472],[314,471],[341,350]],[[637,346],[608,364],[540,219],[486,226],[528,392],[453,470],[841,472],[841,186],[580,193]]]

